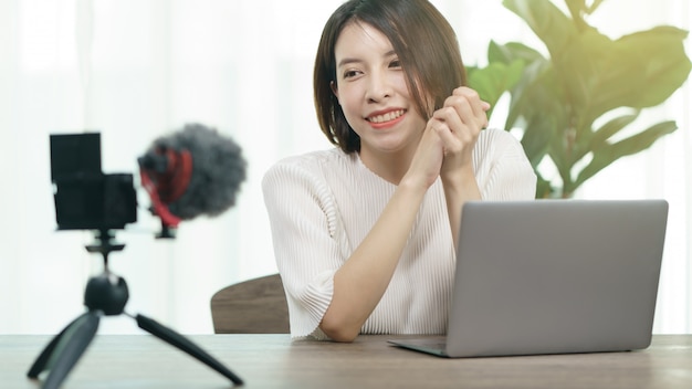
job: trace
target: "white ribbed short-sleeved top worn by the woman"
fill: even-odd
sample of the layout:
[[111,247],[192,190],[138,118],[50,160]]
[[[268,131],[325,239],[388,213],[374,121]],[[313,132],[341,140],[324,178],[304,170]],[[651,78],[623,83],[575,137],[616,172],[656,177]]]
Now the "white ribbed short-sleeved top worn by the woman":
[[[533,199],[536,176],[504,130],[481,132],[473,166],[484,200]],[[289,301],[291,334],[325,338],[318,325],[334,273],[369,232],[396,186],[357,154],[337,148],[279,161],[262,181],[274,254]],[[387,292],[363,334],[444,334],[454,248],[440,179],[428,190]]]

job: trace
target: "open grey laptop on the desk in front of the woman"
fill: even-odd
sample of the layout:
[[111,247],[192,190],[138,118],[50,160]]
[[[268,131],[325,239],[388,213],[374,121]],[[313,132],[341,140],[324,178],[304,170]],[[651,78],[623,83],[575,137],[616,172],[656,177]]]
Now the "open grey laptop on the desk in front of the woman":
[[462,215],[447,336],[390,344],[450,358],[649,347],[665,200],[474,201]]

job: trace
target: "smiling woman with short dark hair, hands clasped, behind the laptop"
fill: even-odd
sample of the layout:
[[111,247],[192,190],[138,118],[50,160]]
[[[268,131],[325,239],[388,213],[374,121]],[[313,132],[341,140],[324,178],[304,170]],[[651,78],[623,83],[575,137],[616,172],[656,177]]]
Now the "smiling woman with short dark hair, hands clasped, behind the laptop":
[[427,0],[352,0],[327,21],[315,106],[337,147],[263,180],[294,338],[443,334],[469,200],[533,199],[516,139],[482,130],[452,28]]

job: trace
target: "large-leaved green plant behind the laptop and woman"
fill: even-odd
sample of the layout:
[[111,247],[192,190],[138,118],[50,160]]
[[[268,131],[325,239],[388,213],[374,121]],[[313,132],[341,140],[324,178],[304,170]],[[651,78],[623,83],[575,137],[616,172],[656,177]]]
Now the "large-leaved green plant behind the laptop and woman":
[[[523,130],[522,145],[538,175],[536,197],[572,197],[618,158],[649,148],[675,122],[632,128],[642,109],[660,105],[686,81],[688,31],[661,25],[612,40],[586,18],[605,0],[503,0],[545,44],[491,42],[487,65],[469,66],[469,84],[493,106],[510,95],[505,129]],[[492,113],[491,113],[492,114]],[[548,158],[559,180],[538,169]]]

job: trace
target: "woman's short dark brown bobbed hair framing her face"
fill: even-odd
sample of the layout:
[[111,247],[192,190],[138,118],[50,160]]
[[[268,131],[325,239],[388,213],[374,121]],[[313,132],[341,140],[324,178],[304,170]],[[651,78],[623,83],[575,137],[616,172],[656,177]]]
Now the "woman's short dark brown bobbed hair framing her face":
[[[385,34],[396,51],[411,96],[428,119],[454,88],[466,85],[457,34],[428,0],[350,0],[329,18],[322,32],[313,74],[315,111],[322,132],[345,153],[360,150],[332,90],[336,83],[335,45],[350,23],[369,24]],[[430,107],[429,99],[434,102]]]

